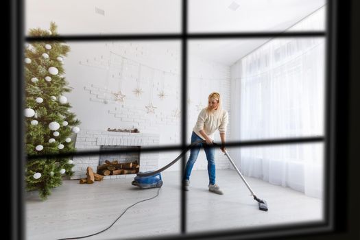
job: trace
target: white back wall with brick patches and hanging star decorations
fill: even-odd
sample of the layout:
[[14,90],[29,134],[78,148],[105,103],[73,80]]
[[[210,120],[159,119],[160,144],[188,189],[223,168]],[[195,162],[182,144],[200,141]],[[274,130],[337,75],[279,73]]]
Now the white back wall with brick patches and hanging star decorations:
[[[72,111],[75,112],[77,119],[82,121],[80,129],[138,128],[142,133],[159,134],[160,145],[180,144],[181,112],[177,110],[181,110],[181,56],[178,41],[68,44],[71,51],[69,56],[64,58],[66,70],[64,76],[73,90],[66,96],[73,106]],[[123,78],[119,78],[121,73],[119,62],[123,58],[131,60],[132,65],[125,64],[128,69],[123,69]],[[136,77],[139,75],[139,64],[142,66],[139,86],[143,93],[138,97],[132,91],[138,86]],[[157,69],[154,71],[153,81],[152,69]],[[224,97],[224,108],[229,110],[229,70],[229,67],[206,62],[195,56],[189,58],[191,77],[188,93],[191,102],[188,104],[187,119],[189,141],[199,112],[196,105],[201,101],[202,105],[206,106],[209,93],[213,91],[221,93]],[[120,89],[126,96],[123,102],[115,101],[115,95],[112,94]],[[158,96],[162,90],[166,94],[164,99]],[[154,113],[147,113],[145,108],[150,101],[156,106]],[[219,141],[218,134],[215,135],[217,137],[215,140]],[[228,168],[228,163],[219,152],[217,167]],[[178,152],[160,154],[159,167],[169,163],[178,154]],[[206,158],[202,153],[194,169],[206,169],[206,165]],[[170,170],[180,170],[179,166],[179,164],[174,165]]]

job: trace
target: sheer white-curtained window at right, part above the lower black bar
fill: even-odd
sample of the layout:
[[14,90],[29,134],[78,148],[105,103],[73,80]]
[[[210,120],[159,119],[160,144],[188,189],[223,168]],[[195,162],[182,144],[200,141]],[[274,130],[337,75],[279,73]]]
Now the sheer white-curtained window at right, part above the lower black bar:
[[272,40],[235,69],[241,140],[324,134],[324,38]]

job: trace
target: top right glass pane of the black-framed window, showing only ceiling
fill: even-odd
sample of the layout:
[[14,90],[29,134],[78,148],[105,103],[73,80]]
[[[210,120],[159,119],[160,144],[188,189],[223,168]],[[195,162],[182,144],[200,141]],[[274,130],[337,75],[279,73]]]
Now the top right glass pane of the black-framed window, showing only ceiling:
[[325,0],[192,0],[189,32],[324,31]]

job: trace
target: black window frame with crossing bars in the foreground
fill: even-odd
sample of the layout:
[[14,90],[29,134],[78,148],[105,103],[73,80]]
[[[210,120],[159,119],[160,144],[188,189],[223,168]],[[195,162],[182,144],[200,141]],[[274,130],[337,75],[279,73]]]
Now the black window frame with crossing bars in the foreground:
[[[182,215],[181,215],[181,234],[171,236],[171,239],[199,239],[205,237],[206,239],[228,237],[230,238],[248,238],[248,237],[291,237],[293,235],[309,235],[320,234],[321,232],[336,232],[346,230],[347,212],[341,211],[341,205],[347,201],[346,199],[346,180],[341,179],[341,176],[347,171],[347,165],[341,164],[339,158],[344,158],[341,155],[341,150],[346,148],[347,132],[344,130],[346,124],[346,117],[348,116],[347,100],[340,99],[348,93],[348,83],[342,82],[339,79],[346,78],[346,62],[337,60],[337,56],[346,54],[339,51],[340,44],[346,44],[346,38],[340,38],[340,34],[347,33],[348,28],[341,29],[339,25],[341,20],[338,16],[346,16],[348,13],[348,3],[341,5],[339,1],[328,0],[326,13],[326,30],[324,32],[256,32],[256,33],[210,33],[210,34],[189,34],[187,33],[187,0],[182,0],[182,33],[180,34],[119,34],[119,35],[101,35],[101,36],[59,36],[56,38],[29,38],[23,34],[23,19],[24,19],[24,3],[21,0],[12,2],[11,10],[13,12],[12,40],[16,43],[11,45],[9,49],[14,55],[11,59],[11,95],[12,95],[12,119],[16,119],[16,124],[12,123],[10,128],[13,136],[12,145],[12,183],[16,187],[13,197],[16,201],[16,209],[12,208],[12,215],[14,216],[12,224],[17,226],[17,231],[14,234],[23,239],[24,219],[24,201],[23,201],[23,178],[19,173],[23,172],[23,165],[25,163],[25,152],[23,149],[23,43],[38,41],[38,40],[67,40],[67,41],[91,41],[91,40],[181,40],[182,43],[182,89],[187,89],[187,41],[191,39],[214,39],[214,38],[264,38],[264,37],[311,37],[324,36],[326,38],[326,132],[324,138],[306,138],[306,139],[270,139],[265,141],[241,141],[237,143],[228,143],[228,147],[243,147],[248,145],[271,145],[284,143],[310,143],[323,141],[326,146],[326,195],[325,199],[328,201],[326,206],[326,217],[324,224],[296,224],[296,226],[279,226],[274,228],[261,226],[259,230],[234,230],[234,231],[219,231],[219,232],[199,232],[186,233],[186,192],[182,191]],[[346,23],[346,19],[342,20]],[[187,139],[187,92],[182,91],[182,145],[178,147],[159,147],[150,150],[168,151],[169,149],[184,149],[186,147]],[[344,107],[345,106],[345,107]],[[339,116],[346,116],[340,118]],[[345,127],[346,128],[346,127]],[[341,142],[342,141],[342,142]],[[90,153],[90,154],[99,154]],[[182,169],[184,169],[185,159],[182,159]],[[16,174],[17,173],[17,174]],[[16,177],[15,177],[16,176]],[[186,235],[184,235],[186,233]],[[152,237],[148,239],[159,239],[162,236]]]

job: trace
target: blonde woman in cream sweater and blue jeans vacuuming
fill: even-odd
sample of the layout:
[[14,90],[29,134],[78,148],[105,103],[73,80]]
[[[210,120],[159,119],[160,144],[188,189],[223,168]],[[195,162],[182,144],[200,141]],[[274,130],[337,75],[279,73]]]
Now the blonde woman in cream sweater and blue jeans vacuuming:
[[208,147],[213,144],[213,135],[219,130],[221,138],[221,151],[225,152],[225,133],[228,125],[228,112],[222,109],[221,98],[219,93],[211,93],[208,95],[208,106],[201,110],[197,122],[193,128],[191,135],[191,143],[195,141],[205,140],[205,143],[198,144],[199,147],[193,147],[190,152],[189,160],[185,167],[184,190],[189,191],[190,174],[193,165],[199,155],[200,147],[204,147],[206,159],[208,160],[208,191],[217,194],[223,194],[219,186],[215,184],[215,148]]

